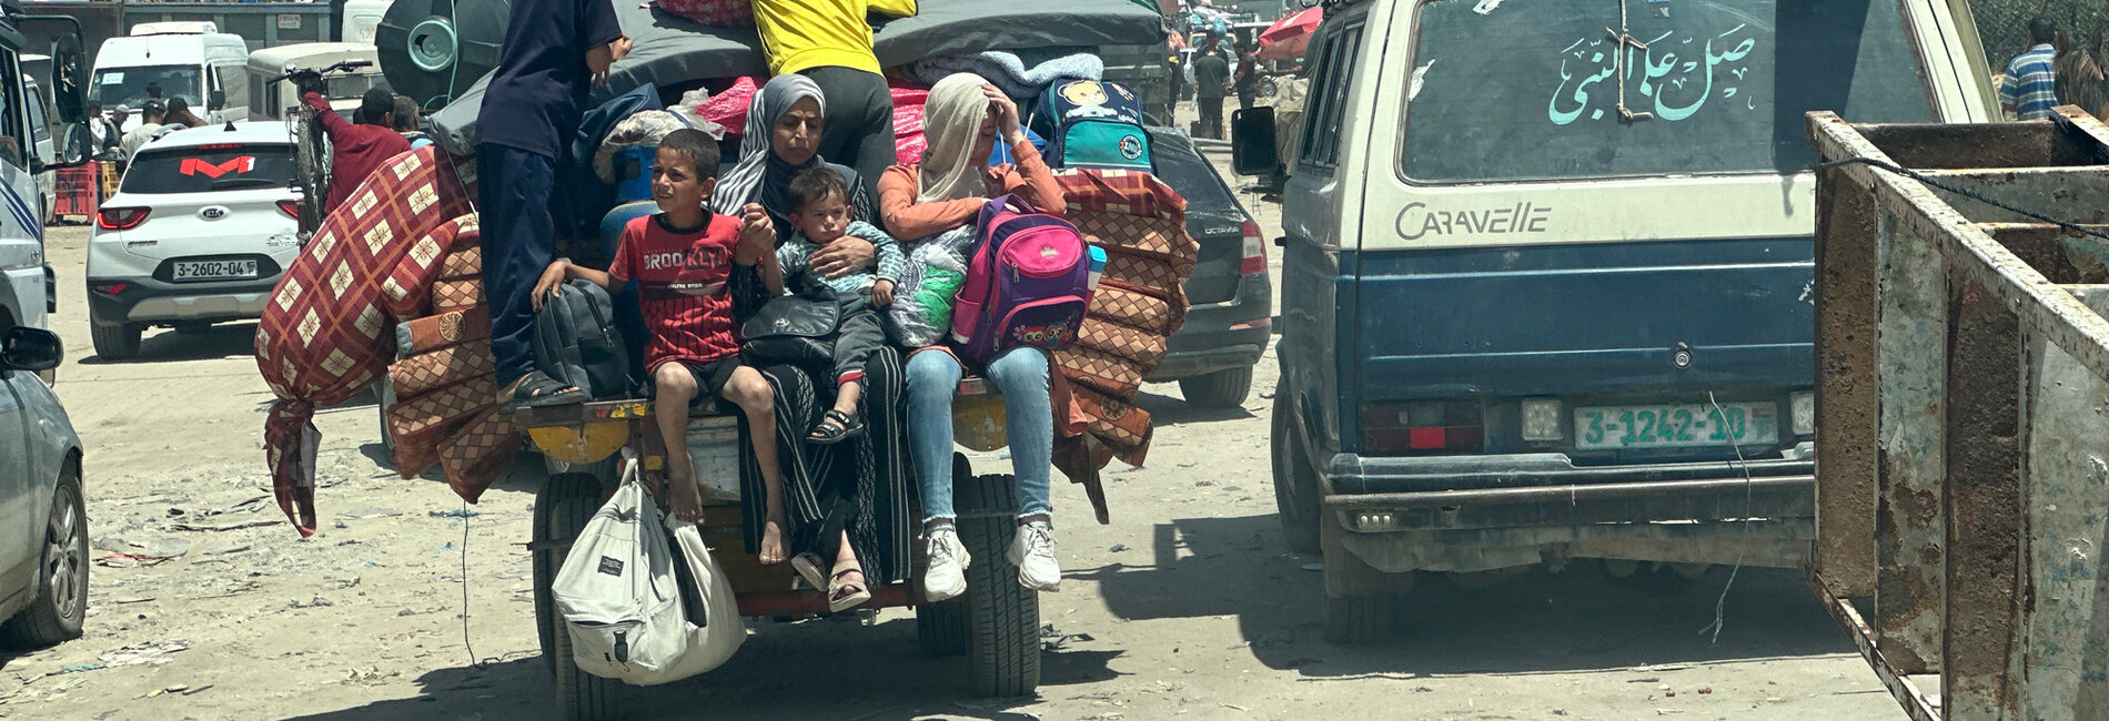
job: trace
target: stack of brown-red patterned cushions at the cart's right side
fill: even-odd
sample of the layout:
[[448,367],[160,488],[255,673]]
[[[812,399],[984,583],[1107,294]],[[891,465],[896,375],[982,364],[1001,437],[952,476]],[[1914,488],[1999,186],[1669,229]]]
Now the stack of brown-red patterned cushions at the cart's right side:
[[1141,466],[1149,455],[1154,424],[1135,394],[1185,325],[1185,280],[1200,245],[1185,230],[1185,198],[1156,175],[1065,169],[1054,179],[1069,202],[1065,217],[1105,251],[1105,276],[1084,325],[1069,348],[1054,352],[1073,405],[1054,417],[1082,415],[1086,428],[1078,436],[1057,434],[1054,466],[1086,485],[1105,523],[1099,468],[1111,457]]

